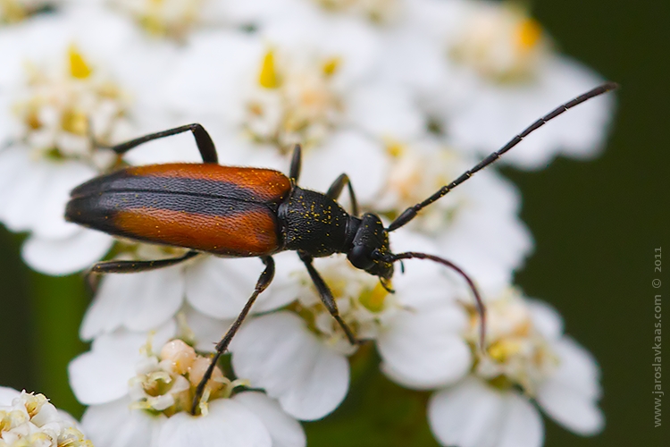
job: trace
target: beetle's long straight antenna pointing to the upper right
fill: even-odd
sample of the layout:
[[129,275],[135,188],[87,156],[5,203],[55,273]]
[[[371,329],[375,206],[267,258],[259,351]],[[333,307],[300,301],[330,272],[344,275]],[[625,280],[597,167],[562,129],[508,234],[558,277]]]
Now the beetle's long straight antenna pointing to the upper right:
[[583,95],[580,95],[579,97],[575,97],[571,101],[566,102],[563,105],[557,106],[554,110],[549,112],[549,114],[544,115],[541,117],[539,120],[536,122],[533,122],[530,126],[528,126],[523,132],[519,133],[518,135],[515,136],[515,138],[510,139],[505,146],[502,148],[499,148],[497,151],[493,152],[490,154],[490,156],[487,156],[484,158],[480,163],[475,164],[472,169],[469,171],[465,171],[465,173],[462,173],[460,177],[456,178],[455,181],[452,181],[446,186],[443,186],[438,190],[435,194],[433,194],[431,197],[426,198],[423,200],[421,203],[417,203],[414,207],[408,207],[405,211],[402,212],[401,215],[398,215],[398,218],[396,218],[395,221],[393,221],[390,225],[387,231],[393,232],[395,230],[398,230],[401,226],[405,225],[412,219],[414,219],[419,211],[421,211],[424,207],[428,207],[431,205],[431,203],[439,200],[440,198],[443,198],[444,196],[447,195],[447,193],[456,186],[460,185],[467,179],[473,176],[474,173],[477,173],[478,171],[481,171],[483,168],[488,166],[489,164],[495,162],[505,154],[509,149],[514,148],[517,144],[519,144],[524,138],[526,138],[528,135],[530,135],[533,131],[536,131],[540,129],[543,125],[545,125],[547,122],[553,120],[556,118],[559,114],[563,114],[565,111],[568,109],[573,108],[575,105],[580,105],[584,101],[589,100],[592,97],[598,97],[599,95],[602,95],[603,93],[607,93],[610,90],[617,89],[619,87],[616,82],[606,82],[602,85],[599,85],[595,89],[590,89]]

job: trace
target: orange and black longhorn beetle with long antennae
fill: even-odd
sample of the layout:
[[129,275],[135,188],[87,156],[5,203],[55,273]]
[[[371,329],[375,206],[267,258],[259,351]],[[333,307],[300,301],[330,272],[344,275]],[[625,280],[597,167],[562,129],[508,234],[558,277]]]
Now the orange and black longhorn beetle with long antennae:
[[[191,408],[193,414],[218,359],[228,349],[256,297],[272,282],[272,255],[284,250],[297,251],[323,304],[352,344],[359,341],[339,316],[328,284],[314,268],[314,257],[346,253],[353,266],[379,276],[381,285],[389,291],[393,264],[399,260],[429,259],[448,266],[460,274],[473,291],[482,320],[483,347],[484,307],[473,280],[441,257],[412,251],[394,254],[389,247],[389,232],[409,223],[424,207],[498,160],[549,120],[616,87],[615,83],[607,82],[560,105],[455,181],[414,207],[408,207],[388,228],[384,228],[378,215],[365,213],[358,216],[356,195],[346,173],[333,181],[325,194],[297,186],[300,146],[293,151],[289,177],[270,169],[222,166],[218,164],[214,142],[200,124],[152,133],[111,149],[121,156],[147,141],[191,131],[203,158],[202,164],[149,164],[101,175],[71,191],[65,218],[115,236],[189,249],[185,255],[171,259],[99,262],[91,267],[94,274],[143,272],[174,266],[201,253],[220,257],[260,257],[263,261],[264,272],[258,278],[254,292],[216,345],[212,363],[197,386]],[[352,214],[336,202],[345,187],[351,198]]]

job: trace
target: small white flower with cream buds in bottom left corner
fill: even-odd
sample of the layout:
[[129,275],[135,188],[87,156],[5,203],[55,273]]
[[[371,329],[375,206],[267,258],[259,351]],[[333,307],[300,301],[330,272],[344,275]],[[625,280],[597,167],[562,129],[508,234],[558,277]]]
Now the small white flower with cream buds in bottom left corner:
[[0,445],[7,447],[92,447],[69,414],[44,394],[0,387]]

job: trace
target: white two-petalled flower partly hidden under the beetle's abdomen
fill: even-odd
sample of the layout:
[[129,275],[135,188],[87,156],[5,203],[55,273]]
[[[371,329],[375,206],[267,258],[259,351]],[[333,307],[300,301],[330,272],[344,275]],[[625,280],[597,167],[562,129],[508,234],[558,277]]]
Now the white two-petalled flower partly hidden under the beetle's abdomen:
[[[179,257],[183,249],[132,244],[124,259]],[[278,260],[278,262],[281,262]],[[263,264],[257,258],[202,255],[178,266],[137,274],[105,274],[81,324],[80,336],[91,340],[124,327],[149,331],[163,325],[188,303],[214,318],[238,316],[254,291]],[[272,285],[271,285],[272,287]],[[286,297],[263,293],[252,312],[281,308]]]

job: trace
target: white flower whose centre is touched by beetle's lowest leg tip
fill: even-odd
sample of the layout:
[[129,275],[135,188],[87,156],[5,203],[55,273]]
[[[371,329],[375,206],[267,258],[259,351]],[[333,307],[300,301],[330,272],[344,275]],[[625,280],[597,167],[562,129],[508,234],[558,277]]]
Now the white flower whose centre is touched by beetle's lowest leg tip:
[[218,367],[197,416],[191,415],[195,387],[210,358],[174,334],[173,324],[150,342],[147,333],[104,334],[71,362],[72,389],[90,405],[82,426],[96,446],[306,444],[300,425],[276,401],[240,390],[246,381],[230,381]]

